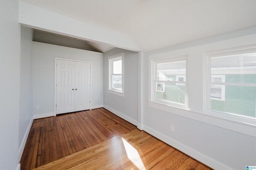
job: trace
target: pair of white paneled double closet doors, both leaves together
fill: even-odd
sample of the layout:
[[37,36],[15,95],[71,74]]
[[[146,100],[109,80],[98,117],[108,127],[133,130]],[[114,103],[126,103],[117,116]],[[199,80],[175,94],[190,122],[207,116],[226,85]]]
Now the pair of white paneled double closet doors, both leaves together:
[[56,114],[90,109],[90,63],[57,59]]

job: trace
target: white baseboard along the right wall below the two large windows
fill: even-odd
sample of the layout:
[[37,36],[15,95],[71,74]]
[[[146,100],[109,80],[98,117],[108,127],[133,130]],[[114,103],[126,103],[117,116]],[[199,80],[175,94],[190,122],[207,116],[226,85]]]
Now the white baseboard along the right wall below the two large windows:
[[214,168],[216,170],[230,170],[230,168],[228,168],[227,166],[220,164],[215,160],[212,160],[211,158],[197,152],[196,150],[193,150],[192,148],[189,148],[188,146],[185,146],[184,144],[181,144],[180,142],[177,142],[176,140],[173,140],[172,138],[169,138],[168,136],[161,134],[160,132],[157,132],[150,127],[144,125],[143,130],[148,132],[152,136],[162,140],[163,142],[166,142],[170,146],[180,150],[181,152],[184,152],[188,156],[206,164],[207,166],[210,166],[211,168]]

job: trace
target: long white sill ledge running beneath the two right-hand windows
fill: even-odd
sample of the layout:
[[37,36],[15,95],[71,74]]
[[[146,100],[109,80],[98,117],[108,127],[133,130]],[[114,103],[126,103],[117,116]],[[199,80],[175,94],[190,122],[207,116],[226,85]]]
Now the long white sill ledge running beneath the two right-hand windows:
[[178,107],[173,107],[169,105],[155,103],[154,101],[148,101],[148,106],[178,115],[181,117],[186,117],[195,121],[200,121],[202,123],[207,123],[209,125],[214,125],[216,127],[225,128],[242,134],[256,137],[256,125],[255,123],[246,123],[242,121],[229,120],[223,117],[217,117],[216,115],[209,113],[198,113],[190,111],[189,109],[182,109]]

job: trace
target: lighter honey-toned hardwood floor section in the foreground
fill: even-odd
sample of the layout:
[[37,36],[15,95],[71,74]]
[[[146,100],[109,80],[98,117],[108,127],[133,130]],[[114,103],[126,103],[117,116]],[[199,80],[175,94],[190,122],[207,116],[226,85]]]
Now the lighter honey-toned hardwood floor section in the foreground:
[[34,170],[210,170],[138,129]]

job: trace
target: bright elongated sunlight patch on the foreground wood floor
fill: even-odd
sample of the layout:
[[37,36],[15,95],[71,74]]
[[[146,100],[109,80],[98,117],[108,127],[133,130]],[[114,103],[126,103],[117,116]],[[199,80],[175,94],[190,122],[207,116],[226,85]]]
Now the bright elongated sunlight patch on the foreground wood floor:
[[127,154],[128,159],[140,170],[146,170],[138,151],[129,144],[124,138],[122,138],[124,148]]

